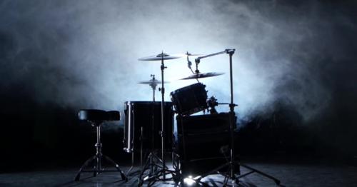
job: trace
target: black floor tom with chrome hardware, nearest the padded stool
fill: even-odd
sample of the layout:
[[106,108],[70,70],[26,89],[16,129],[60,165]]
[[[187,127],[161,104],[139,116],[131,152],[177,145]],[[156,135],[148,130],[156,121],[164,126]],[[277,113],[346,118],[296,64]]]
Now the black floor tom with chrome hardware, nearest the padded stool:
[[[143,149],[161,148],[161,102],[126,101],[124,122],[124,151],[140,151],[141,138]],[[154,114],[154,115],[153,115]],[[154,117],[154,118],[153,118]],[[154,126],[152,126],[154,122]],[[174,138],[174,111],[171,102],[164,103],[165,149],[172,151]]]

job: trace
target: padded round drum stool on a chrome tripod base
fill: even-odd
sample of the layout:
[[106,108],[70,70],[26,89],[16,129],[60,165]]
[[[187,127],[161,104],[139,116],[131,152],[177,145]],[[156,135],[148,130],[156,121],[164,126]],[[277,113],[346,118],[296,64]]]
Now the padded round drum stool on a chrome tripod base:
[[[105,121],[119,121],[121,118],[119,111],[101,111],[101,110],[87,109],[87,110],[80,110],[78,116],[79,116],[79,120],[87,121],[91,124],[91,126],[96,127],[96,144],[94,145],[96,147],[96,154],[94,156],[91,156],[88,160],[86,160],[83,166],[81,166],[79,172],[76,174],[76,177],[74,178],[74,181],[79,181],[81,177],[81,173],[83,172],[92,172],[93,176],[97,176],[103,172],[119,172],[121,174],[121,179],[123,181],[124,180],[128,181],[126,175],[119,168],[119,164],[113,161],[113,159],[101,153],[101,146],[102,146],[101,124],[104,123]],[[112,165],[114,165],[116,170],[104,170],[102,166],[103,160],[106,160]],[[93,169],[84,170],[91,163],[93,164]]]

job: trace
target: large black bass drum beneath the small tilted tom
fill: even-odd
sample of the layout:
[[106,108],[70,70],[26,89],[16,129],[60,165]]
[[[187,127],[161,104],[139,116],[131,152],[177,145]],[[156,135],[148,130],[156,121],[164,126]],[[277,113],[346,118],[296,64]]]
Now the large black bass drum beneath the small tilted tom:
[[[233,119],[235,124],[236,116]],[[177,116],[176,120],[176,150],[183,176],[200,176],[226,163],[221,150],[231,141],[229,113]]]

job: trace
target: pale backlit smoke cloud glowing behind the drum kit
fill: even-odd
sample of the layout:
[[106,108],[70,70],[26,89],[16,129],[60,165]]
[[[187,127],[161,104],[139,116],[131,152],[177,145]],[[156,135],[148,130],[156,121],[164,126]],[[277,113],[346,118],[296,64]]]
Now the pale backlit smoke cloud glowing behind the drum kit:
[[[122,111],[125,101],[151,100],[151,88],[139,81],[150,74],[161,79],[160,63],[140,57],[234,48],[239,118],[268,113],[276,101],[286,101],[308,120],[331,99],[317,72],[322,51],[332,51],[326,46],[331,42],[321,40],[331,36],[335,20],[320,7],[228,0],[1,1],[0,31],[14,44],[1,61],[9,76],[2,85],[28,84],[37,102]],[[226,73],[202,79],[219,102],[230,101],[228,62],[223,54],[199,66],[203,73]],[[191,74],[186,59],[166,66],[169,101],[171,91],[195,81],[177,81]]]

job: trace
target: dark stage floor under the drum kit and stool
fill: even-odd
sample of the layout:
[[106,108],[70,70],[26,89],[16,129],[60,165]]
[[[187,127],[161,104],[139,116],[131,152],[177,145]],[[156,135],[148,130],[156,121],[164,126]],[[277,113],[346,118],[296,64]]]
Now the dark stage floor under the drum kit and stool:
[[[281,181],[281,186],[356,186],[357,167],[345,164],[326,163],[264,163],[248,162],[248,166],[268,173]],[[124,172],[128,165],[121,166]],[[134,168],[138,169],[139,167]],[[0,174],[0,186],[137,186],[138,176],[129,176],[129,181],[121,181],[119,173],[101,173],[91,177],[90,173],[81,175],[81,181],[74,182],[78,168],[40,169],[31,172]],[[241,168],[241,173],[247,170]],[[223,176],[212,175],[202,180],[208,186],[222,186]],[[144,183],[147,186],[148,183]],[[159,181],[153,186],[175,186],[173,181]],[[195,186],[195,185],[192,185]],[[197,186],[197,185],[196,185]],[[276,186],[268,178],[253,173],[243,177],[236,186]]]

